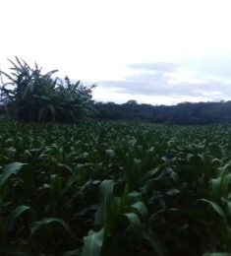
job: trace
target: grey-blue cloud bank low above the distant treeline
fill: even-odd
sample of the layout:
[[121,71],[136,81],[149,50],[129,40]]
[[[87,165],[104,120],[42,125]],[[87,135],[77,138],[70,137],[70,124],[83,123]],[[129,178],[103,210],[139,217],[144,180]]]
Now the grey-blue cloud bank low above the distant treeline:
[[220,80],[217,76],[215,79],[212,77],[205,79],[204,73],[204,79],[201,80],[195,77],[191,82],[176,82],[173,78],[181,76],[181,68],[184,68],[178,63],[138,63],[131,64],[129,67],[134,71],[133,75],[121,81],[103,81],[99,83],[99,86],[119,94],[130,94],[135,98],[136,96],[169,96],[169,98],[190,96],[212,100],[213,98],[231,97],[231,83],[223,83],[222,76]]

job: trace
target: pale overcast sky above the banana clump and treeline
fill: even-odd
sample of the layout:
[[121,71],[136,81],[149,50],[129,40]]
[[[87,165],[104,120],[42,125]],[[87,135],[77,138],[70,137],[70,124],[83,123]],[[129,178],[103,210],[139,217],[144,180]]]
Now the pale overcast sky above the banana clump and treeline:
[[96,101],[231,99],[230,0],[0,0],[7,58],[97,84]]

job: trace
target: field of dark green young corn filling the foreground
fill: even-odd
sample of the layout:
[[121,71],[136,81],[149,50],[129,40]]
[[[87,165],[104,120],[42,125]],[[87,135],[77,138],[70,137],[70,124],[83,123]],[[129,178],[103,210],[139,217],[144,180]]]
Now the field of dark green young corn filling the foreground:
[[1,255],[231,253],[231,127],[0,123]]

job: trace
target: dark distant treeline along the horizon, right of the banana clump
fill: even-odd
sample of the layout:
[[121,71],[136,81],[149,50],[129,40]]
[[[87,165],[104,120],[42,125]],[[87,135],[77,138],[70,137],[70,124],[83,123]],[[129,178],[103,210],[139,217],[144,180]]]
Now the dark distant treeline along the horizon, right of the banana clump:
[[183,102],[177,105],[138,104],[129,100],[123,104],[96,102],[101,120],[137,120],[164,124],[231,123],[231,101]]

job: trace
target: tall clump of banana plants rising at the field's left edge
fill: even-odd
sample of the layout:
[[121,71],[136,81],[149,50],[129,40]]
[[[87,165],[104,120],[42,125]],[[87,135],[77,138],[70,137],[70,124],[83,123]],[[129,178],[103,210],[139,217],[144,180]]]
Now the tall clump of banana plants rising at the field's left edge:
[[12,64],[12,73],[0,73],[8,79],[1,87],[1,101],[8,115],[21,121],[41,122],[77,122],[91,116],[91,90],[80,81],[71,83],[68,77],[62,81],[52,78],[58,70],[46,74],[35,64],[29,67],[25,60],[16,57]]

